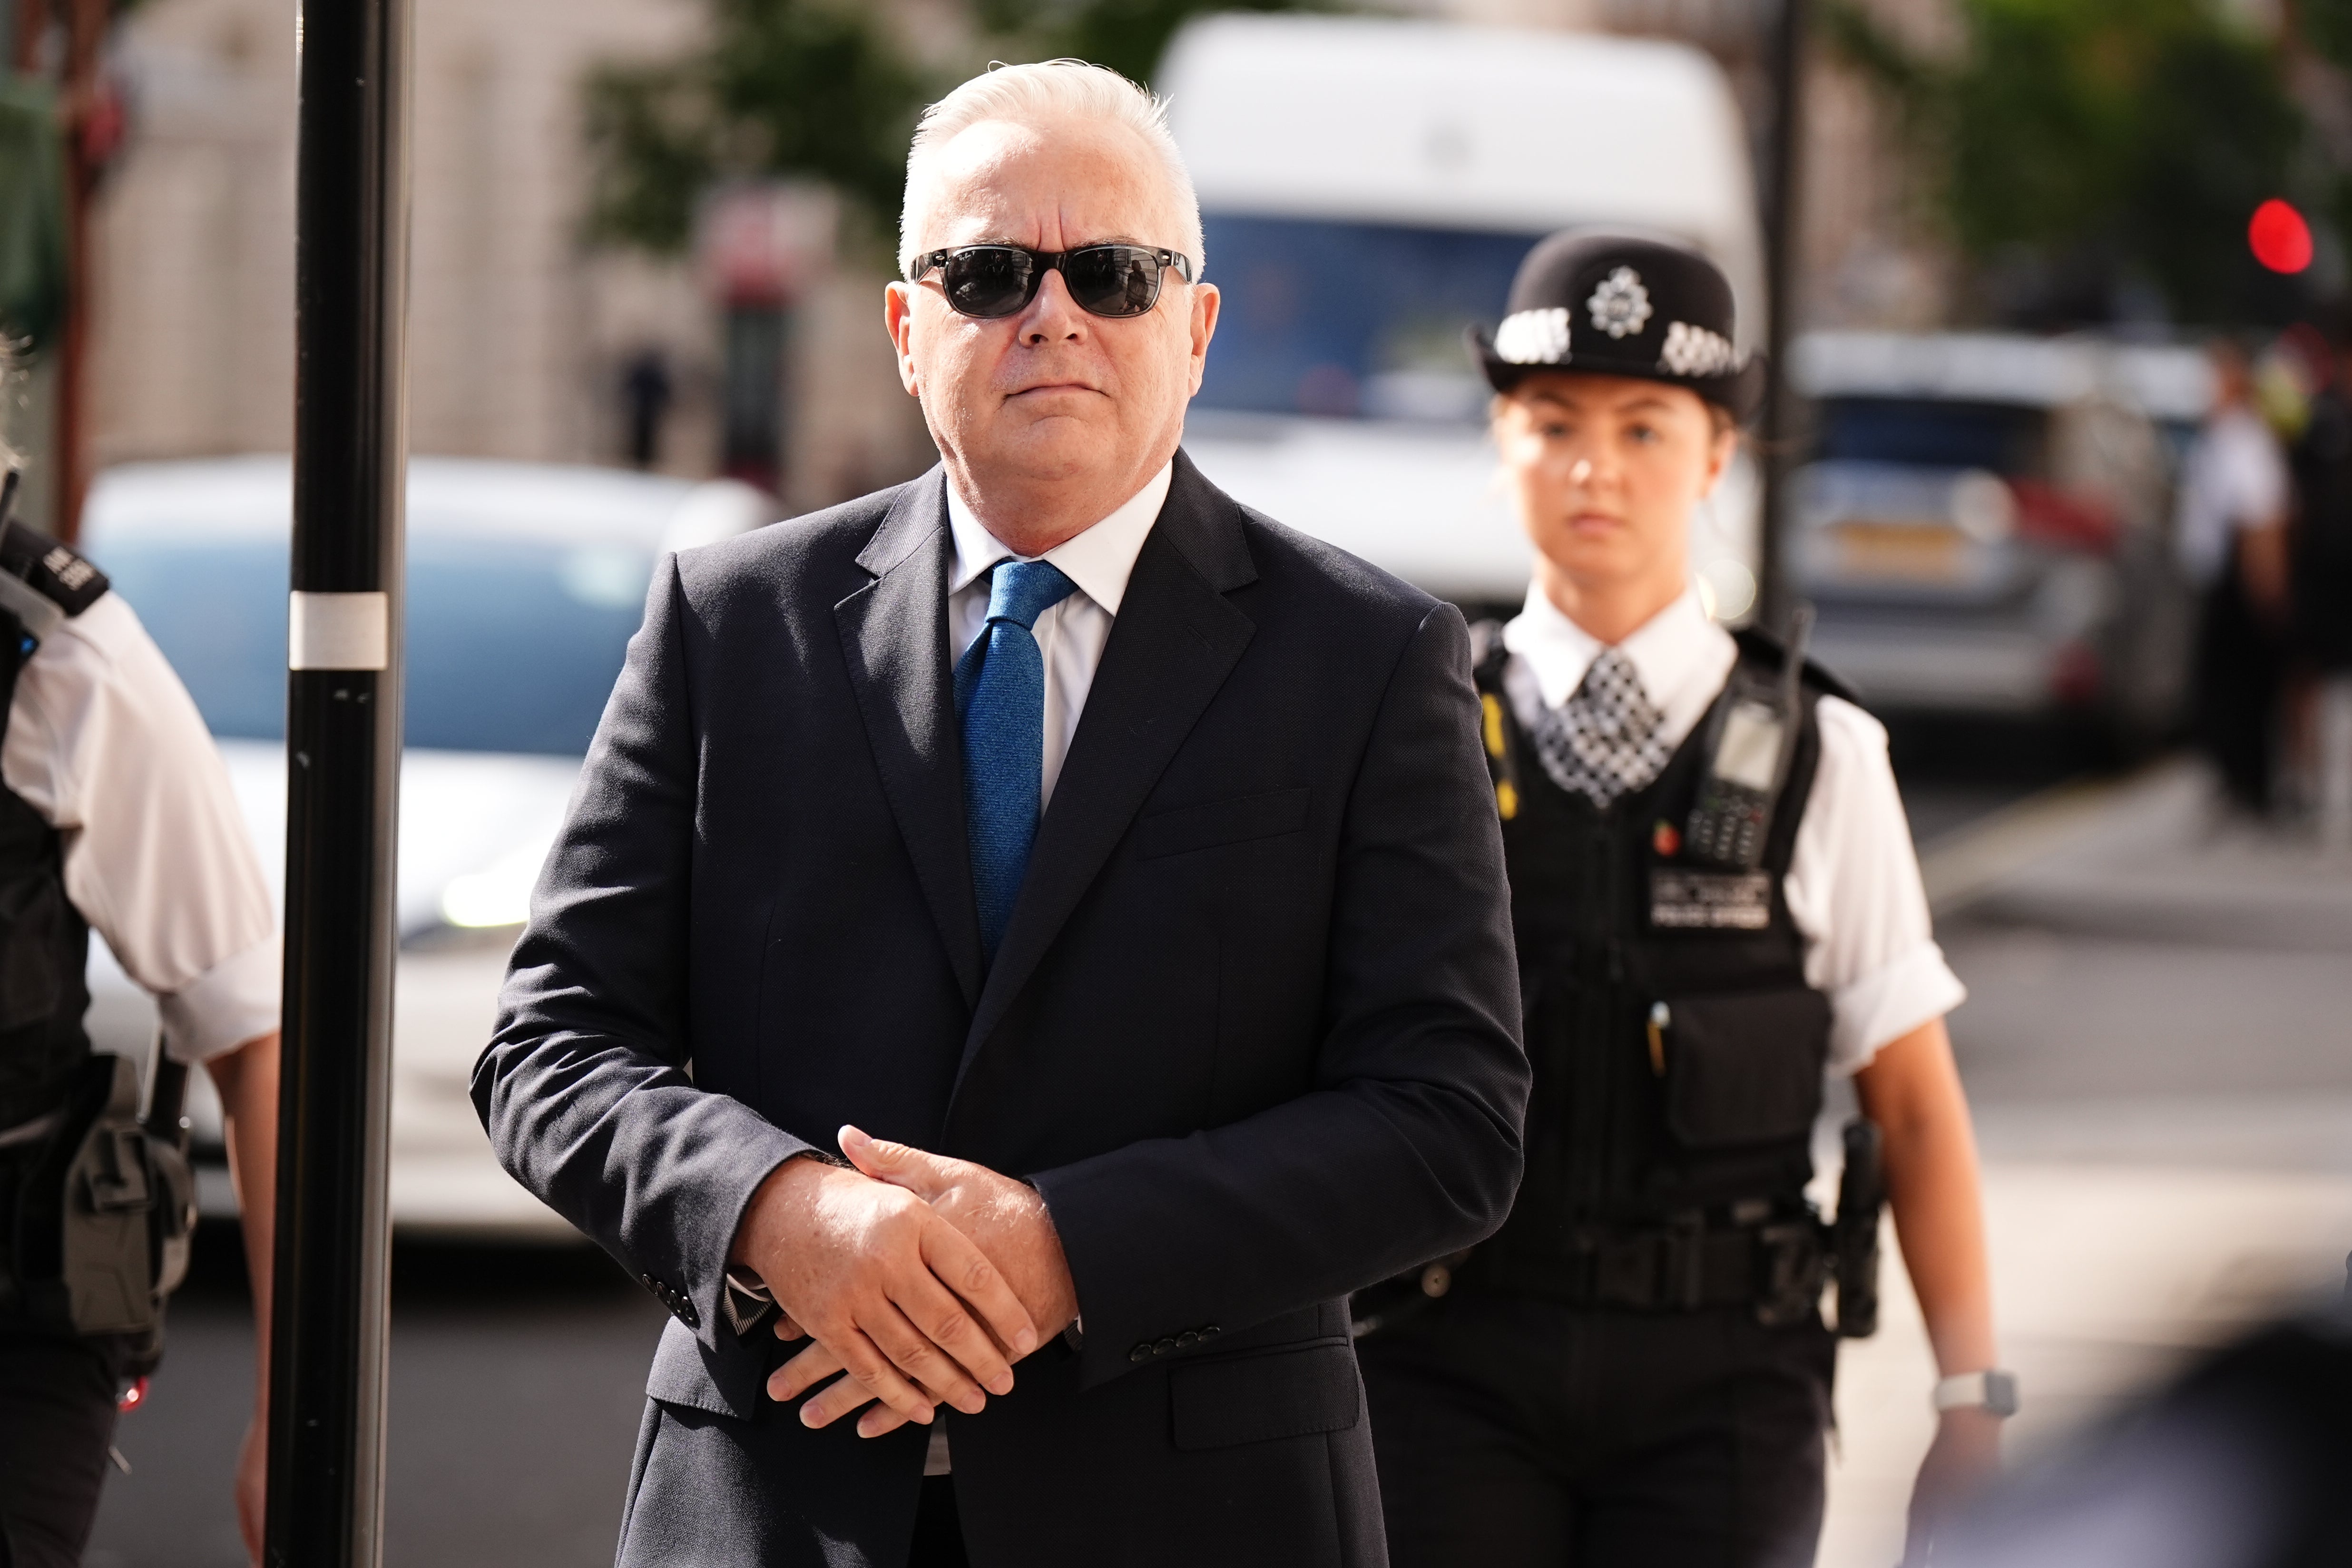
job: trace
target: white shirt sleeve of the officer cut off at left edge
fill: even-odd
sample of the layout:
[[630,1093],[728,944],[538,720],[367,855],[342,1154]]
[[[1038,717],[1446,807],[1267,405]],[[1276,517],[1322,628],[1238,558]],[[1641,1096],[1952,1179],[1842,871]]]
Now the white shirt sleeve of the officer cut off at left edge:
[[200,1063],[278,1027],[278,917],[188,689],[122,595],[16,677],[0,780],[64,837],[66,898]]

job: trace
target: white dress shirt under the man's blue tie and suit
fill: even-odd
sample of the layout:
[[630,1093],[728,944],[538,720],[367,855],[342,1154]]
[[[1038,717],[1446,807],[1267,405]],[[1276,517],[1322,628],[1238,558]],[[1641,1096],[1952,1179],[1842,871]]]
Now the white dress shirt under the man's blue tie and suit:
[[948,482],[948,531],[955,534],[955,562],[948,567],[948,663],[964,656],[964,649],[988,625],[988,583],[983,574],[997,562],[1042,559],[1061,569],[1077,583],[1077,592],[1037,616],[1030,632],[1044,656],[1044,778],[1037,783],[1037,809],[1054,799],[1054,780],[1061,778],[1061,759],[1070,755],[1070,738],[1077,733],[1077,717],[1087,710],[1087,691],[1094,689],[1094,670],[1103,663],[1103,644],[1110,642],[1110,623],[1127,597],[1127,578],[1136,569],[1136,555],[1160,520],[1160,508],[1169,498],[1174,465],[1162,465],[1143,482],[1127,503],[1098,524],[1065,538],[1044,555],[1014,555],[1014,550],[988,531],[988,527],[955,494]]

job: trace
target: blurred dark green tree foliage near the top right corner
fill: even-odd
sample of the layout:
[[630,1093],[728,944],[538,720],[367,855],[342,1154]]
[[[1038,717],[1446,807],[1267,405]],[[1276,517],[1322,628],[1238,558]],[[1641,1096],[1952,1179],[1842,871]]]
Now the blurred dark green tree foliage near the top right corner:
[[[2352,9],[2352,2],[2347,2]],[[1933,212],[1978,263],[2143,280],[2180,320],[2260,315],[2265,197],[2331,207],[2281,49],[2211,0],[1962,0],[1959,59],[1910,54],[1842,0],[1828,38],[1903,108]]]

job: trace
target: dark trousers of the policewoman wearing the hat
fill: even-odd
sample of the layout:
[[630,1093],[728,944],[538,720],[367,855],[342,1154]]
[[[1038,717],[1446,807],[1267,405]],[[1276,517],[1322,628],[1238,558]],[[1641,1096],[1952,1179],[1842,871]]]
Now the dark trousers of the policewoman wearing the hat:
[[1395,1568],[1802,1568],[1837,1340],[1461,1291],[1357,1342]]

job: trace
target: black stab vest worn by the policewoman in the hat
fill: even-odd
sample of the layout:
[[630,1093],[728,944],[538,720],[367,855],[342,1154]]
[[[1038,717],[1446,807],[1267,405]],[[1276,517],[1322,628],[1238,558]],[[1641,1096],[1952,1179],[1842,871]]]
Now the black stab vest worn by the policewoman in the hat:
[[[1597,1232],[1802,1211],[1830,1001],[1804,980],[1783,879],[1820,759],[1813,705],[1835,686],[1809,665],[1795,757],[1750,875],[1762,882],[1733,884],[1738,872],[1679,844],[1708,719],[1656,780],[1592,806],[1543,771],[1503,691],[1501,639],[1482,635],[1477,689],[1536,1072],[1526,1175],[1479,1248],[1484,1269],[1541,1276]],[[1738,642],[1748,670],[1778,675],[1776,642]]]

